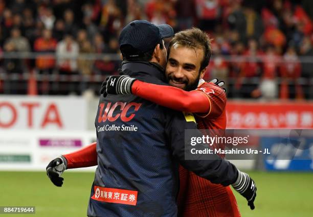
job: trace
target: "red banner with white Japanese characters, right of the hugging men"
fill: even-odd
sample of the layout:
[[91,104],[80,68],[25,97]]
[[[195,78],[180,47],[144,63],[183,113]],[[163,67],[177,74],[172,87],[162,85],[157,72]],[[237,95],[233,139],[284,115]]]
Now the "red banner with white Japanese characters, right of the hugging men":
[[313,129],[312,102],[228,101],[228,129]]

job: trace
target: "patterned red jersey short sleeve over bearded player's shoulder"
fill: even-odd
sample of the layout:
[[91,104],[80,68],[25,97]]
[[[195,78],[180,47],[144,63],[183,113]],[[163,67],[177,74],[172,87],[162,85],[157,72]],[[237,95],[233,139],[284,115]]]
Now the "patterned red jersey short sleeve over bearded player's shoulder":
[[210,110],[202,114],[199,114],[199,112],[197,114],[198,116],[214,119],[222,114],[227,102],[226,93],[222,88],[213,83],[206,82],[195,89],[195,91],[204,94],[210,102]]

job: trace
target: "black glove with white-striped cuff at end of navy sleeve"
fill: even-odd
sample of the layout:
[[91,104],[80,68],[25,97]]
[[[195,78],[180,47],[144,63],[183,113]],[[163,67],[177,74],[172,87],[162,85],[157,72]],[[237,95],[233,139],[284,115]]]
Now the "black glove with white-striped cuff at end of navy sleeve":
[[248,201],[248,206],[254,209],[254,200],[256,197],[256,186],[254,181],[250,178],[247,173],[243,173],[238,170],[238,178],[234,184],[234,189],[239,192]]

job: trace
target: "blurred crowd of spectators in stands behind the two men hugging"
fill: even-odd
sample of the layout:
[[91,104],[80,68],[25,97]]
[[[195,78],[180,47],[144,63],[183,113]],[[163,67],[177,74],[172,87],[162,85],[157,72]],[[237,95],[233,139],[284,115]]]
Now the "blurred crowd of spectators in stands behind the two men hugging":
[[135,19],[208,32],[213,58],[205,79],[225,80],[229,97],[313,98],[311,0],[0,0],[0,53],[54,53],[4,56],[0,67],[6,74],[116,74],[120,61],[78,57],[119,54],[119,33]]

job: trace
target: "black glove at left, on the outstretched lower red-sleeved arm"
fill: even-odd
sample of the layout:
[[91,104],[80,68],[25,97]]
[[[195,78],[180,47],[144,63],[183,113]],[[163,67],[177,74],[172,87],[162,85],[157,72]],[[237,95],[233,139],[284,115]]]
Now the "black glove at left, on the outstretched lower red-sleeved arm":
[[61,187],[63,184],[63,178],[61,177],[62,173],[68,167],[68,161],[62,155],[57,156],[54,160],[52,160],[46,170],[47,175],[52,181],[52,183],[58,187]]

